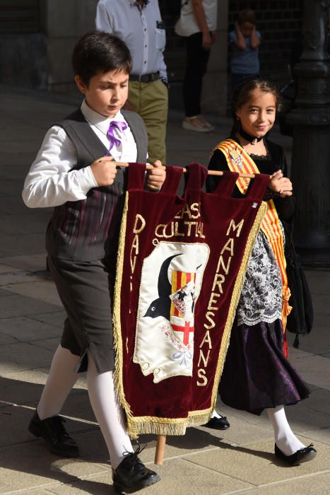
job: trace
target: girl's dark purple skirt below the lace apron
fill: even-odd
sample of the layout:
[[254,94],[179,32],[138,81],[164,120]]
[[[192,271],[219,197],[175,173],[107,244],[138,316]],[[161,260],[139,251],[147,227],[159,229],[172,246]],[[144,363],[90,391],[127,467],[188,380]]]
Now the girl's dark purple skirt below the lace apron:
[[228,406],[252,414],[261,414],[266,407],[295,404],[310,395],[283,354],[281,320],[252,327],[234,323],[219,393]]

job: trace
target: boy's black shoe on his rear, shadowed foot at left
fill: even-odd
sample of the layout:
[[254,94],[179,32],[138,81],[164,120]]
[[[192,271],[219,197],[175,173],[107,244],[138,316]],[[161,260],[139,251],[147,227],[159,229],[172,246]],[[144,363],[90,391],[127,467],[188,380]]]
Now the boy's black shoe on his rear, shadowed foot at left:
[[37,414],[37,410],[35,410],[29,424],[29,431],[34,436],[37,436],[37,438],[42,436],[48,450],[53,454],[66,458],[78,457],[78,445],[64,428],[64,422],[65,419],[60,416],[41,420]]

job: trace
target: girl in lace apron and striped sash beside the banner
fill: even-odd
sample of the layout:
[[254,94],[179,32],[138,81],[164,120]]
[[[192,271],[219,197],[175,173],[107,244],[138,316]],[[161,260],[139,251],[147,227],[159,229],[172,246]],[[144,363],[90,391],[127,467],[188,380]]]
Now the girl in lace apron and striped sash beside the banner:
[[[310,390],[285,357],[283,327],[290,312],[290,290],[283,245],[295,205],[283,149],[267,137],[278,100],[276,87],[259,76],[237,86],[232,133],[214,149],[209,168],[271,176],[264,198],[268,209],[237,305],[219,393],[223,402],[235,409],[252,414],[266,409],[274,429],[275,455],[294,465],[314,458],[316,450],[298,440],[284,411],[284,405],[304,399]],[[213,190],[215,180],[209,176],[208,191]],[[235,197],[242,197],[248,182],[237,180]]]

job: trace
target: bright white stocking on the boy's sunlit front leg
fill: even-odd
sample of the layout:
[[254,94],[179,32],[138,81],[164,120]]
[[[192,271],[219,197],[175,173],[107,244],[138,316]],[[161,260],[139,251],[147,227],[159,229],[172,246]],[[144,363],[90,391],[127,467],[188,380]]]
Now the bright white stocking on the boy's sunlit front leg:
[[90,404],[107,444],[111,465],[116,469],[124,459],[123,453],[133,452],[133,448],[126,431],[124,411],[114,391],[112,371],[98,373],[90,353],[88,353],[87,385]]

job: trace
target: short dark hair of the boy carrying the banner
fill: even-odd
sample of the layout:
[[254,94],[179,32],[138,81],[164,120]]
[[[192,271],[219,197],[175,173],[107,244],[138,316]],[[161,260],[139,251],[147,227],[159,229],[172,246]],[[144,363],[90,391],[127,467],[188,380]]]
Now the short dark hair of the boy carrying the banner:
[[119,37],[103,31],[90,31],[83,35],[73,48],[74,75],[81,77],[88,86],[90,78],[99,72],[131,72],[131,53]]

